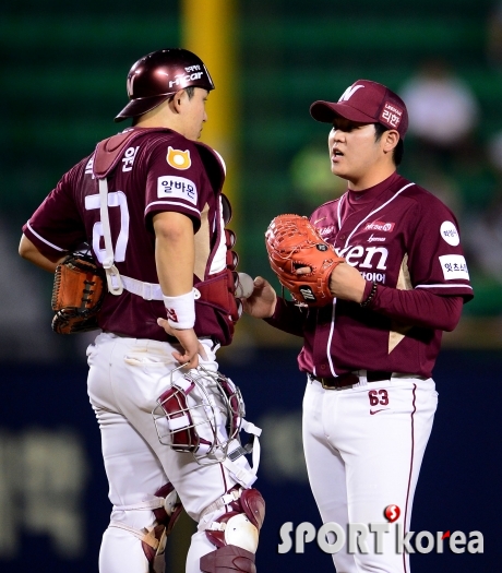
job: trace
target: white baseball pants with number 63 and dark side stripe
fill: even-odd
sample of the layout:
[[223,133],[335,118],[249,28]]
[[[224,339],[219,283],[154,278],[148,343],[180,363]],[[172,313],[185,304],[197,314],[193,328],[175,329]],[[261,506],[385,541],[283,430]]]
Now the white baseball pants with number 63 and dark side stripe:
[[[309,480],[323,523],[385,523],[384,510],[397,505],[395,523],[409,530],[421,461],[432,429],[438,393],[432,379],[394,374],[389,381],[324,390],[308,381],[303,398],[303,447]],[[396,550],[395,525],[378,554],[374,536],[367,554],[348,552],[333,561],[337,573],[409,573],[409,558]],[[328,540],[333,542],[334,539]]]

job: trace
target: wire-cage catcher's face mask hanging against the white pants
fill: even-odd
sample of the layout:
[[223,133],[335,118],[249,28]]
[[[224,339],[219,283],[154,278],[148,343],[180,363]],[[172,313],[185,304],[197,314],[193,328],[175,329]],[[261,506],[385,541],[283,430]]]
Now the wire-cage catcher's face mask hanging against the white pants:
[[246,415],[240,391],[219,372],[199,367],[180,375],[180,368],[152,411],[158,439],[201,465],[219,463]]

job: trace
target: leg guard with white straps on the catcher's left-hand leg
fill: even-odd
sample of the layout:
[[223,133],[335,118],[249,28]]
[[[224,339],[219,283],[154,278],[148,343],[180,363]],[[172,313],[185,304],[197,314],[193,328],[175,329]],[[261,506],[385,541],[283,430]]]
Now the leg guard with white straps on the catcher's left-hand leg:
[[164,573],[166,568],[165,550],[167,536],[180,516],[182,505],[171,484],[166,484],[155,492],[156,498],[133,505],[116,506],[122,511],[152,510],[155,515],[153,525],[143,529],[134,529],[121,522],[111,522],[110,527],[119,527],[132,533],[141,540],[148,561],[148,573]]

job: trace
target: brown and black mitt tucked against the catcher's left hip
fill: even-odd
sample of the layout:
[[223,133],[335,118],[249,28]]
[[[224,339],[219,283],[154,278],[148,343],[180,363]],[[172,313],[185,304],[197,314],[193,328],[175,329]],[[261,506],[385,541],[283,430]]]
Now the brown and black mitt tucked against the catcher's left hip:
[[56,268],[52,330],[75,334],[98,329],[97,314],[105,298],[105,273],[92,256],[68,255]]

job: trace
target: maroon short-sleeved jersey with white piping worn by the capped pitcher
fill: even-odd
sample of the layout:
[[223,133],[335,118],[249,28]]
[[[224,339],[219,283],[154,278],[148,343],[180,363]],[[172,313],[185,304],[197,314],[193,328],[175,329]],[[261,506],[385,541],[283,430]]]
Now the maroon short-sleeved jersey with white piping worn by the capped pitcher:
[[[367,280],[473,297],[455,216],[397,174],[325,203],[311,222]],[[397,322],[347,300],[309,310],[280,300],[270,322],[303,335],[300,369],[320,377],[360,369],[430,377],[442,336],[440,330]]]

